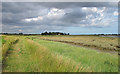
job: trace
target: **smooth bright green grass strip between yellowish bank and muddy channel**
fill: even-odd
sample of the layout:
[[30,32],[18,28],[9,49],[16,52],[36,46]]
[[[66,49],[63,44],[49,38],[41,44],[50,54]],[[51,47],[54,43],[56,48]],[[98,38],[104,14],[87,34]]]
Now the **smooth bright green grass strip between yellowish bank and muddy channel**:
[[53,53],[68,57],[97,72],[117,72],[118,56],[109,53],[97,52],[86,48],[71,46],[64,43],[35,39],[46,46]]

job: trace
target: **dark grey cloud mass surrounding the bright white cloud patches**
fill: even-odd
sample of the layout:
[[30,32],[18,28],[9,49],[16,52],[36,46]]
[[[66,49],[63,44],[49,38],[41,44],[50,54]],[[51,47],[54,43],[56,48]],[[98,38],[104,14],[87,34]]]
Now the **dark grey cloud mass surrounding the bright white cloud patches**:
[[[86,16],[92,14],[96,17],[99,17],[98,14],[92,11],[82,11],[81,7],[106,7],[107,12],[112,14],[112,11],[115,11],[117,3],[79,3],[79,2],[3,2],[2,4],[2,23],[3,32],[37,32],[44,30],[61,30],[64,27],[69,26],[80,26],[79,24],[91,24],[90,20],[86,22],[81,22],[86,20]],[[60,19],[50,19],[45,15],[48,14],[51,8],[58,8],[65,11],[65,15]],[[110,9],[109,9],[110,8]],[[114,9],[115,8],[115,9]],[[106,13],[107,13],[106,12]],[[44,16],[45,19],[42,21],[23,21],[26,18],[36,18],[38,16]],[[14,26],[21,26],[20,28],[14,28]],[[89,26],[89,25],[87,25]],[[98,27],[98,26],[95,26]],[[99,26],[101,27],[101,26]]]

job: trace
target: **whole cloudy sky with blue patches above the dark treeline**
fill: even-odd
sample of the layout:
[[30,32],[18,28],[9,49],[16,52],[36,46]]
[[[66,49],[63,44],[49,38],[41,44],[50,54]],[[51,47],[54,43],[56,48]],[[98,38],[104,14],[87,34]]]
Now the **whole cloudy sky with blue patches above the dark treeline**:
[[2,32],[118,33],[117,2],[3,2]]

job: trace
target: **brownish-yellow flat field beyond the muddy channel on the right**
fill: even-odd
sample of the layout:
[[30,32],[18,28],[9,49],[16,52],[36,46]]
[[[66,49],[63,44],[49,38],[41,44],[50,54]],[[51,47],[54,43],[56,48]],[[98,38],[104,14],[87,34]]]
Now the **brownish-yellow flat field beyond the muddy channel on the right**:
[[101,50],[118,51],[118,38],[100,36],[41,36],[46,40],[72,43]]

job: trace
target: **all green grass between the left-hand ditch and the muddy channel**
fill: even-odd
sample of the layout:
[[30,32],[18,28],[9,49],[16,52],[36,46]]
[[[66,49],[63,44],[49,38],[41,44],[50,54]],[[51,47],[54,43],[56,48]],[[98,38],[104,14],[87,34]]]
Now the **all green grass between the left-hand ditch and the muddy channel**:
[[3,72],[118,72],[117,55],[26,37],[4,38],[19,41],[7,50]]

